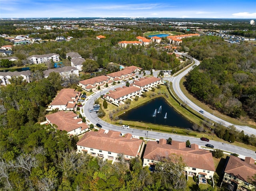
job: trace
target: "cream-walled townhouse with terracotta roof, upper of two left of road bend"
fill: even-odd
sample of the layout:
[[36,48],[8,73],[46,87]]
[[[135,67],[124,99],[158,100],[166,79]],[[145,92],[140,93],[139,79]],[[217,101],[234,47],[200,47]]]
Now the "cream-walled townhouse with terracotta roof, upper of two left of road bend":
[[78,99],[81,97],[81,93],[75,91],[75,89],[62,89],[48,105],[48,111],[51,110],[63,110],[72,111],[75,110]]

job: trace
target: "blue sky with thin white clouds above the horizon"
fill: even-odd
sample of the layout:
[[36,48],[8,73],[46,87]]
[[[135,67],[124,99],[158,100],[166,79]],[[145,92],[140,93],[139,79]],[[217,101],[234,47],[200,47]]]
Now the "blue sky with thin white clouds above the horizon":
[[256,0],[0,0],[0,18],[256,19]]

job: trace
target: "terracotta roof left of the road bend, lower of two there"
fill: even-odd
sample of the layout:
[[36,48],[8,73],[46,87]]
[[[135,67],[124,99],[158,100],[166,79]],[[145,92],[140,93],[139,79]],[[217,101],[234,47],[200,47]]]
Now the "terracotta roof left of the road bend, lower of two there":
[[46,120],[51,124],[56,124],[58,130],[65,130],[70,132],[74,129],[81,127],[81,130],[88,128],[88,125],[82,122],[74,112],[59,111],[50,115],[46,115]]

